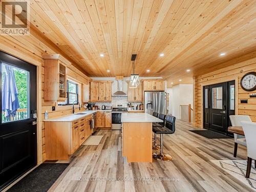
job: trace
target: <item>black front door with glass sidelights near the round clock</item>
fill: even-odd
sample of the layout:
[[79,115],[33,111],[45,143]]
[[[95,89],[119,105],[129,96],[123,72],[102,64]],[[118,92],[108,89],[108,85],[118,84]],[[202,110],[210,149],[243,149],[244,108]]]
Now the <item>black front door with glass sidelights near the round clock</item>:
[[234,81],[204,86],[204,129],[228,134],[229,115],[234,115]]

